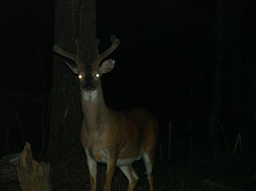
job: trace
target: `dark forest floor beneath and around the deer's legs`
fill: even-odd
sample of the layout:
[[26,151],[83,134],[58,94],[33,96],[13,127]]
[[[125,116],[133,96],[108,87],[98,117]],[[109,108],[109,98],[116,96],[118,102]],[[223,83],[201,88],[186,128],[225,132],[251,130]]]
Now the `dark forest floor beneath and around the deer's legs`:
[[[168,190],[256,190],[255,156],[245,152],[216,154],[201,151],[191,158],[171,153],[160,159],[156,155],[154,165],[154,189]],[[51,166],[52,190],[90,190],[85,156],[82,150],[70,153],[68,158]],[[149,190],[142,160],[133,164],[139,175],[136,191]],[[103,190],[106,165],[97,166],[97,190]],[[126,190],[127,179],[117,168],[112,181],[112,191]],[[17,182],[0,185],[0,190]],[[18,190],[18,189],[11,189]]]

